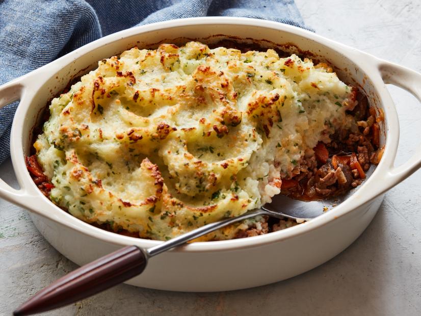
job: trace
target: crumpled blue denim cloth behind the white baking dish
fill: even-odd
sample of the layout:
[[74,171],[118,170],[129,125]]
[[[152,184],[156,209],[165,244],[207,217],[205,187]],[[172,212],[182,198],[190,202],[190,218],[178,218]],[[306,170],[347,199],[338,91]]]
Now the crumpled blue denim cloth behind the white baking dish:
[[[293,0],[0,0],[0,85],[101,36],[194,16],[243,16],[306,28]],[[17,106],[0,110],[0,163],[10,154]]]

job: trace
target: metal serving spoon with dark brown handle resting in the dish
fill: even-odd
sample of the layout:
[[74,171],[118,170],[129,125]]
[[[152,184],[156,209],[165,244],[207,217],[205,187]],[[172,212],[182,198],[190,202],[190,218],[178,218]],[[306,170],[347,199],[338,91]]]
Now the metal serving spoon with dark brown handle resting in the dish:
[[268,215],[275,218],[283,219],[286,217],[303,222],[323,213],[323,210],[319,207],[318,212],[310,212],[310,215],[304,218],[297,217],[294,216],[293,212],[286,214],[277,210],[276,204],[278,203],[279,201],[275,198],[272,203],[265,204],[260,209],[252,210],[238,217],[207,224],[146,250],[142,250],[137,246],[124,247],[58,279],[35,294],[34,297],[16,309],[13,314],[29,315],[48,311],[104,291],[141,274],[150,257],[241,220],[258,215]]

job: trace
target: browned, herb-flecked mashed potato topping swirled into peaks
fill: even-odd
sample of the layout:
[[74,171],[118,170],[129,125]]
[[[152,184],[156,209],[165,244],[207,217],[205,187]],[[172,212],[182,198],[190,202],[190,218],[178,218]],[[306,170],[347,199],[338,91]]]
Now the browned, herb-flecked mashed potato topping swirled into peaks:
[[353,103],[328,65],[296,55],[135,47],[53,99],[34,146],[51,201],[86,222],[168,240],[270,202],[319,141],[350,124]]

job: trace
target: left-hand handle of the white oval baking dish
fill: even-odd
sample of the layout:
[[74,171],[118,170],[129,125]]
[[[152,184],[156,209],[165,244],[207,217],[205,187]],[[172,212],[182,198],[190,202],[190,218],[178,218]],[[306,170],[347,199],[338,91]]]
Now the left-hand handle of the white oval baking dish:
[[[8,104],[20,100],[24,93],[24,80],[17,78],[3,86],[0,86],[0,109]],[[22,188],[19,183],[20,189],[16,190],[10,187],[3,179],[0,178],[0,198],[5,199],[17,205],[23,206],[27,191]]]

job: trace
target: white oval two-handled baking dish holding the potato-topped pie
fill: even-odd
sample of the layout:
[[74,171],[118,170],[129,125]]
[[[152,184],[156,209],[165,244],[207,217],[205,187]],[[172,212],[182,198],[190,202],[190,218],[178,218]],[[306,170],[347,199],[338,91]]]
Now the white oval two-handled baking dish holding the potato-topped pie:
[[28,209],[46,240],[78,265],[125,245],[148,248],[161,243],[96,228],[44,197],[25,167],[31,130],[48,99],[62,91],[81,69],[87,69],[98,60],[135,45],[142,48],[149,43],[172,42],[179,37],[207,43],[227,36],[288,43],[281,47],[294,51],[290,45],[293,43],[338,67],[336,71],[343,80],[355,80],[371,104],[384,111],[383,158],[372,176],[353,195],[314,220],[252,238],[189,244],[154,257],[142,275],[127,283],[172,291],[227,291],[293,277],[343,251],[369,225],[384,192],[421,167],[421,147],[404,165],[393,167],[399,122],[385,86],[385,83],[395,84],[419,99],[421,75],[317,34],[271,21],[207,17],[144,25],[96,40],[1,86],[0,107],[20,99],[11,134],[11,156],[20,189],[14,190],[0,179],[0,197]]

